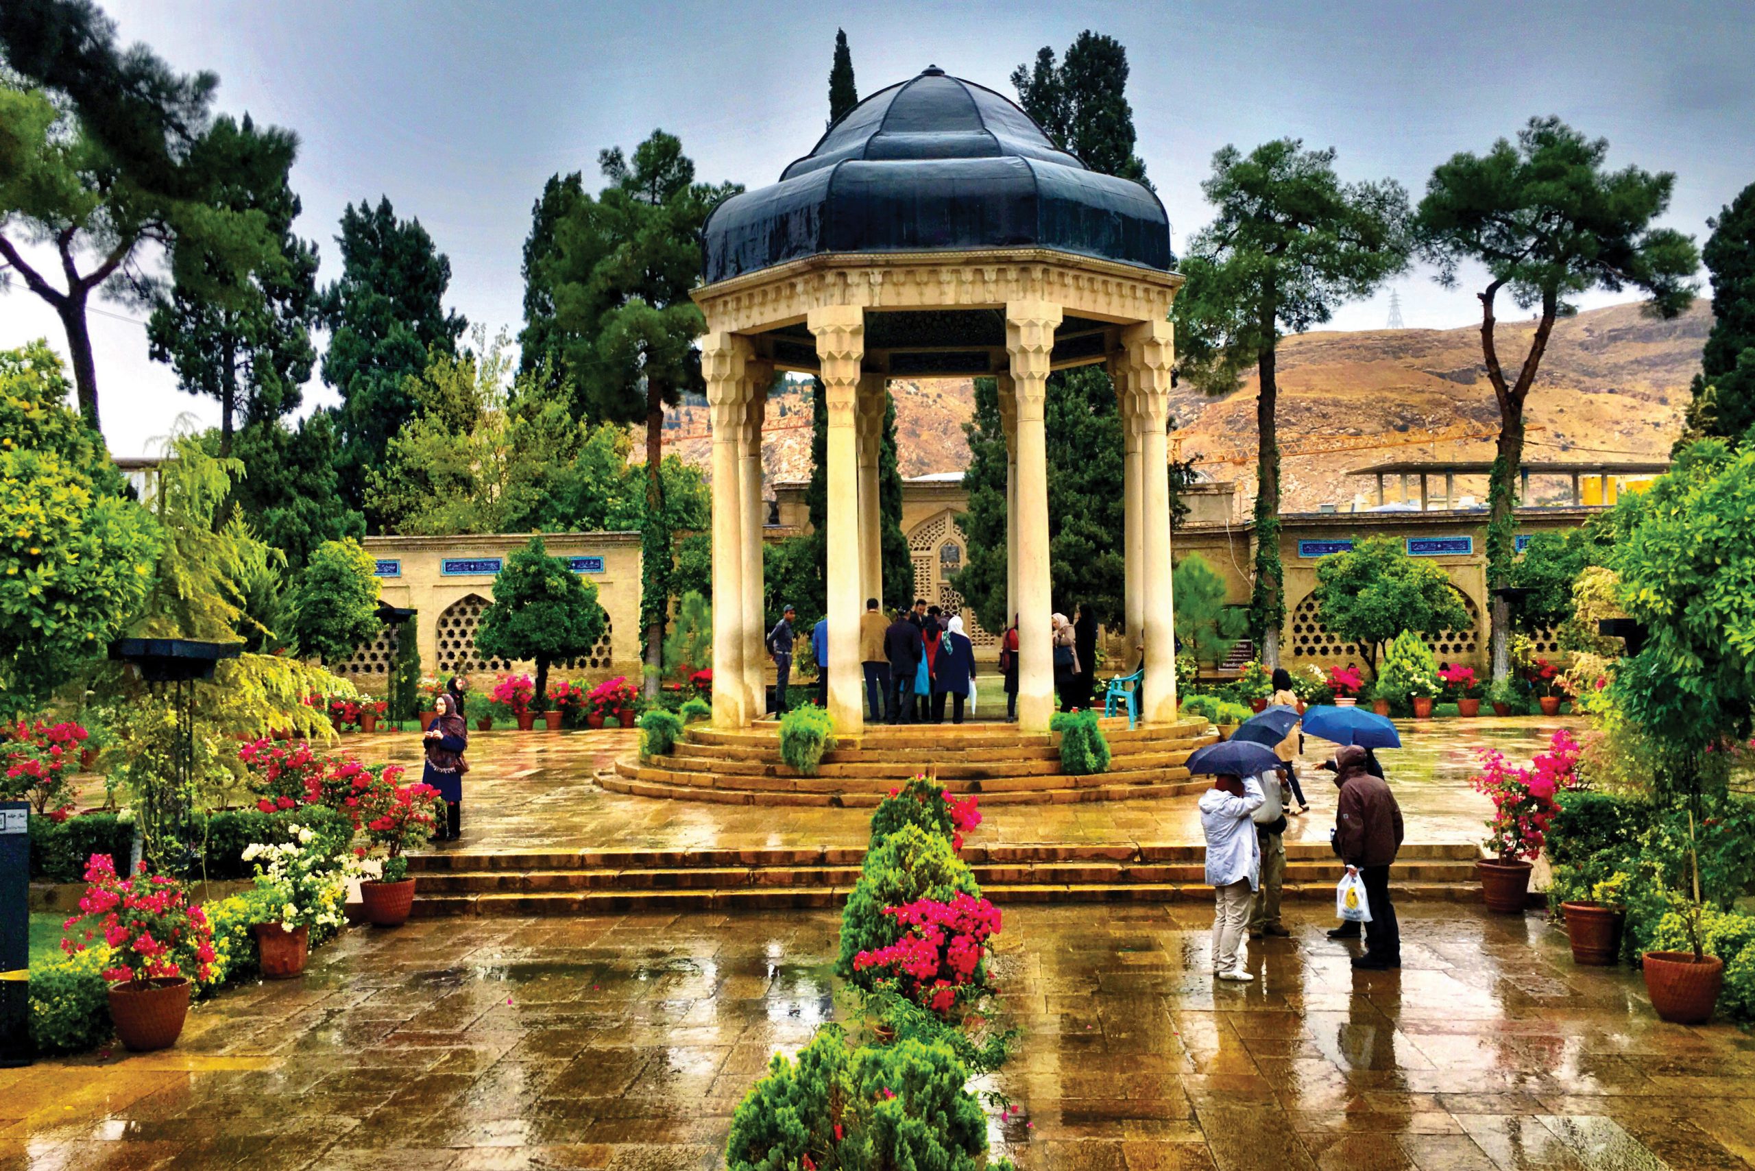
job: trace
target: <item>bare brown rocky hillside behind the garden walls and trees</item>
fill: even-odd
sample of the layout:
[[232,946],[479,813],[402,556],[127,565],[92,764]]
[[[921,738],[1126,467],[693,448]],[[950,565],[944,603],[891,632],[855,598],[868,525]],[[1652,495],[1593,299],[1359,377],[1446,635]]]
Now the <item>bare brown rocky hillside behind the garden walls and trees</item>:
[[[1646,318],[1639,305],[1581,313],[1555,325],[1529,400],[1530,460],[1585,462],[1662,456],[1681,430],[1688,379],[1699,369],[1711,325],[1704,302],[1674,321]],[[1499,351],[1522,360],[1534,321],[1499,325]],[[1197,456],[1213,479],[1255,492],[1255,379],[1236,393],[1207,399],[1186,383],[1172,413],[1185,458]],[[962,425],[974,413],[969,379],[900,383],[897,432],[904,476],[960,471],[969,451]],[[1348,469],[1385,460],[1490,460],[1492,439],[1430,439],[1465,428],[1497,427],[1494,392],[1481,365],[1481,335],[1455,330],[1316,332],[1279,349],[1279,439],[1288,511],[1313,511],[1365,492]],[[670,449],[707,467],[707,409],[674,413]],[[772,479],[804,479],[811,467],[807,383],[769,400],[763,462]],[[1320,448],[1344,448],[1322,451]],[[1295,451],[1309,451],[1295,455]],[[1543,485],[1534,485],[1536,493]],[[1558,492],[1560,485],[1550,485]],[[1569,486],[1567,486],[1569,490]],[[1485,495],[1485,483],[1458,483]]]

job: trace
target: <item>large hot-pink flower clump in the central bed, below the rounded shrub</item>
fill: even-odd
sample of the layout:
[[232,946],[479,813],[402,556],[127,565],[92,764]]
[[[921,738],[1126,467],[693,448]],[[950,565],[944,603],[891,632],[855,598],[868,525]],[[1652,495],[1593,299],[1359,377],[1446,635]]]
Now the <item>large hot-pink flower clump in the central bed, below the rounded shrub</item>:
[[885,969],[879,983],[895,983],[902,995],[946,1020],[958,1004],[995,990],[985,964],[988,939],[1000,927],[992,902],[958,892],[949,902],[920,899],[883,913],[895,916],[904,934],[886,948],[855,955],[855,971]]

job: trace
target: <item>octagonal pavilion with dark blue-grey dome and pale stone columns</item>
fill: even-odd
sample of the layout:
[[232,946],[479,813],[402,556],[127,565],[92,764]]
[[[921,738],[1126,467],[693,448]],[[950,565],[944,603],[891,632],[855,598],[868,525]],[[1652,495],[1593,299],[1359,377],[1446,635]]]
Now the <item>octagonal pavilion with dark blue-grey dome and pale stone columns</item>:
[[[1007,446],[1007,592],[1018,722],[1048,727],[1049,370],[1104,363],[1127,435],[1127,637],[1141,715],[1176,716],[1167,476],[1169,219],[1144,186],[1055,147],[1007,98],[939,68],[860,102],[779,183],[704,230],[702,367],[713,411],[713,715],[762,711],[762,418],[777,370],[828,399],[828,706],[863,727],[858,623],[883,597],[878,446],[892,377],[993,377]],[[1151,469],[1153,474],[1146,474]]]

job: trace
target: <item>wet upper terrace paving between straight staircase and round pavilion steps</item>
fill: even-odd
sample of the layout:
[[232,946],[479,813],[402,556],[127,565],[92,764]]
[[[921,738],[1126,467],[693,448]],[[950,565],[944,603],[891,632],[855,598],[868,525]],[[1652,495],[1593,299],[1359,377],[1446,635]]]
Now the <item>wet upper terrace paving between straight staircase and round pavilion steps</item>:
[[[1476,750],[1494,746],[1522,764],[1546,746],[1553,729],[1580,730],[1569,718],[1474,718],[1402,722],[1406,748],[1383,751],[1408,822],[1408,841],[1479,841],[1490,808],[1469,790],[1478,771]],[[923,737],[932,729],[921,730]],[[867,809],[720,806],[697,801],[628,797],[598,788],[591,776],[634,750],[635,732],[472,734],[470,772],[463,781],[463,839],[479,850],[684,850],[709,846],[863,846]],[[412,732],[346,736],[340,750],[367,762],[419,769]],[[1293,818],[1288,841],[1329,841],[1334,825],[1334,785],[1314,765],[1332,753],[1309,739],[1299,771],[1313,809]],[[988,806],[979,841],[1000,843],[1199,843],[1193,797],[1114,801],[1064,806]]]

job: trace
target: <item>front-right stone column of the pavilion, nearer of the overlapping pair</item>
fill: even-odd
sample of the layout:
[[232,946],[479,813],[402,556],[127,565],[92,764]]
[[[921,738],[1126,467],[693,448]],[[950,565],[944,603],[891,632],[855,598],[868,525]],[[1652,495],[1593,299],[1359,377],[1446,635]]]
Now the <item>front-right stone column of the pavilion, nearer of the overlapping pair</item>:
[[1046,732],[1055,713],[1051,630],[1053,583],[1048,576],[1048,448],[1042,406],[1048,362],[1055,349],[1060,305],[1046,300],[1006,304],[1006,349],[1018,404],[1018,509],[1013,544],[1018,557],[1018,727]]

